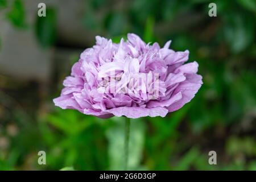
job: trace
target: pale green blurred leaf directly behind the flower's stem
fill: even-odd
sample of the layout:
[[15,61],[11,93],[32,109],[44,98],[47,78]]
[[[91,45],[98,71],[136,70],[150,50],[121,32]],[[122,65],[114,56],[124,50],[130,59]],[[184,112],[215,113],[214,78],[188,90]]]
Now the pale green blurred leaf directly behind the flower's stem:
[[[123,170],[125,152],[125,120],[117,118],[115,126],[110,128],[106,135],[109,142],[110,170]],[[129,162],[128,169],[141,169],[142,149],[144,146],[145,126],[141,119],[132,119],[130,126]]]

